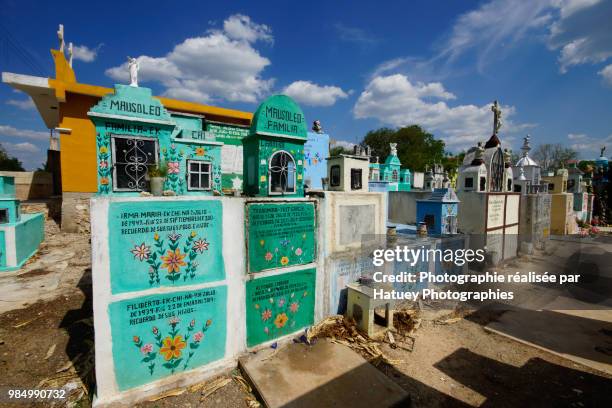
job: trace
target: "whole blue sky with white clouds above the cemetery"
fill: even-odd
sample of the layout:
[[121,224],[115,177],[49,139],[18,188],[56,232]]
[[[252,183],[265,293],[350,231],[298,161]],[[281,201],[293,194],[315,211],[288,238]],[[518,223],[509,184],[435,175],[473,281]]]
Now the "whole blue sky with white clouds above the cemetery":
[[[0,16],[2,71],[51,75],[63,23],[79,82],[127,82],[130,55],[158,95],[254,111],[287,93],[337,140],[416,123],[457,152],[490,136],[499,99],[514,150],[526,133],[585,159],[612,144],[612,0],[4,0]],[[48,144],[38,113],[6,85],[0,106],[0,143],[36,168]]]

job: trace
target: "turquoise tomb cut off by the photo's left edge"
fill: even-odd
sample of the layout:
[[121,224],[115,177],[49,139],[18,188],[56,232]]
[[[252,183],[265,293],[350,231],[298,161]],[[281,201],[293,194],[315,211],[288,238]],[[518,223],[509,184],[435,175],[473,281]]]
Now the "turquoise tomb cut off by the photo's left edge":
[[19,204],[15,178],[0,176],[0,272],[21,268],[45,238],[45,215],[21,214]]

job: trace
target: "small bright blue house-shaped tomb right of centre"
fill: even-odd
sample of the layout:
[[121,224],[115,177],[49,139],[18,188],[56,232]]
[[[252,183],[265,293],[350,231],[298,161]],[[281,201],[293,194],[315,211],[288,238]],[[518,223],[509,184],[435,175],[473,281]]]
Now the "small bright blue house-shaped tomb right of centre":
[[417,224],[430,235],[455,235],[459,199],[452,188],[437,188],[426,200],[417,200]]

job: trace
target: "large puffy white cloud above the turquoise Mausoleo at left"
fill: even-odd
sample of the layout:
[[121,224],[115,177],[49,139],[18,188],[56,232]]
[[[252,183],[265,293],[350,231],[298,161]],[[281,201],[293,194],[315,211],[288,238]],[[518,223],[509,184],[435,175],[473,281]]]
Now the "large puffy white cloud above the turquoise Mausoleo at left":
[[[236,14],[225,20],[223,30],[188,38],[165,56],[137,57],[139,80],[161,83],[164,95],[174,98],[255,102],[270,91],[274,80],[262,78],[270,60],[254,44],[272,40],[269,27]],[[127,62],[107,69],[106,75],[128,82]]]

